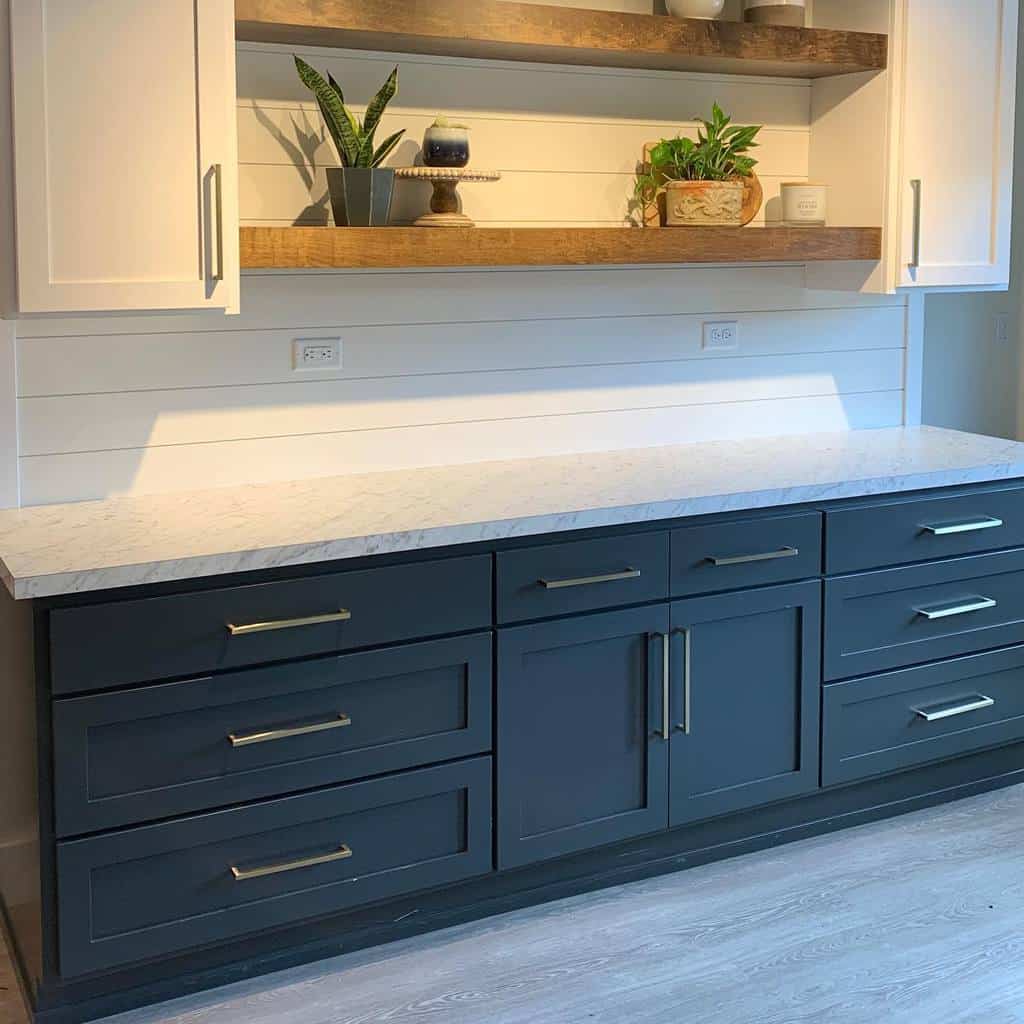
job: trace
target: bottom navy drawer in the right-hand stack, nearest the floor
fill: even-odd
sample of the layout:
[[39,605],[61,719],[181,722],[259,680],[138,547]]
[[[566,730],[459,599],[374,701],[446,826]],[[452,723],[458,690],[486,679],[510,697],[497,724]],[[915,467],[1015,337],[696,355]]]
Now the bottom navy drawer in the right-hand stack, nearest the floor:
[[824,785],[1024,739],[1024,646],[830,683]]

